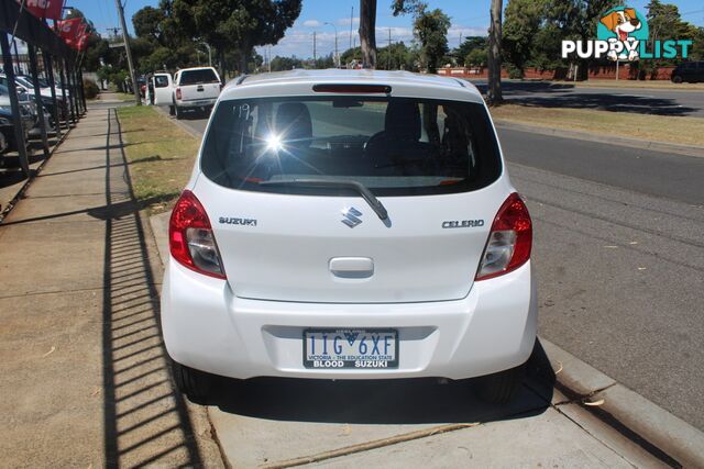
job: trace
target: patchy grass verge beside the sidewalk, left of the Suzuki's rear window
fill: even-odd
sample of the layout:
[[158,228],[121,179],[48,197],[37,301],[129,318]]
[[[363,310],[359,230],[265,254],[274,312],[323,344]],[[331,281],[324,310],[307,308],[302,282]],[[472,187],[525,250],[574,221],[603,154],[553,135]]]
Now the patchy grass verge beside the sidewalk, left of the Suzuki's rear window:
[[190,177],[199,142],[146,105],[118,108],[134,196],[150,213],[169,210]]

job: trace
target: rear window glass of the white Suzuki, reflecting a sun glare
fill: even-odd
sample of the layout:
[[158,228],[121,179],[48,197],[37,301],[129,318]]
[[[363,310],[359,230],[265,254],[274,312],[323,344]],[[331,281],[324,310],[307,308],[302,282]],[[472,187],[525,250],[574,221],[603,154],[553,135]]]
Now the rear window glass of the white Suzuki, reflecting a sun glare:
[[201,169],[232,189],[344,194],[261,185],[328,178],[361,182],[377,196],[476,190],[502,170],[482,104],[369,97],[222,101],[206,136]]

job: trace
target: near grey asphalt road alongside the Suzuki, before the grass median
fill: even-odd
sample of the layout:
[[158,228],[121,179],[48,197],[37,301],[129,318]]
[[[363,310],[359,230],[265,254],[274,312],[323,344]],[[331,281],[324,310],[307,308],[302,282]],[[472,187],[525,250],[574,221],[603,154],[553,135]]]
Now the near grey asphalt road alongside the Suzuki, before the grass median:
[[536,225],[540,334],[704,429],[704,158],[499,137]]

